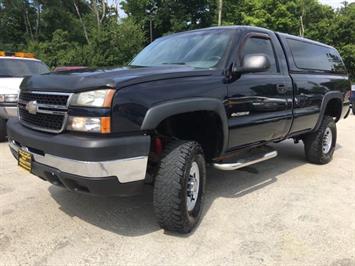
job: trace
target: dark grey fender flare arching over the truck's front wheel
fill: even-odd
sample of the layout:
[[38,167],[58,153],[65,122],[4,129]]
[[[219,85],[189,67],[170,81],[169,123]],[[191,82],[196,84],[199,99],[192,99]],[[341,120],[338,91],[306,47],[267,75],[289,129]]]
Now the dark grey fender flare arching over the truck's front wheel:
[[219,116],[223,130],[222,152],[227,150],[229,138],[228,119],[223,102],[219,99],[188,98],[168,101],[155,105],[147,111],[141,130],[153,130],[168,117],[196,111],[212,111]]

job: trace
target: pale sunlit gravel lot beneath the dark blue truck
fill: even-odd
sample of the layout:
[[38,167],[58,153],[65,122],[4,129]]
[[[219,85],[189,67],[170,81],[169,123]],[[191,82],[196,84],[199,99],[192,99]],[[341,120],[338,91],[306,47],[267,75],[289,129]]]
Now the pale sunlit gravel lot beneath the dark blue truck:
[[355,265],[355,118],[338,132],[325,166],[287,141],[270,161],[209,169],[204,217],[188,236],[159,229],[151,188],[74,194],[19,169],[0,144],[0,264]]

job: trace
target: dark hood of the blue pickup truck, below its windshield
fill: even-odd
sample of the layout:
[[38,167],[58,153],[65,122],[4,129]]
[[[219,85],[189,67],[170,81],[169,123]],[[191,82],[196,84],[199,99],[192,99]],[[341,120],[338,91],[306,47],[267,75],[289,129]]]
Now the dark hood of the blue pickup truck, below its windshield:
[[121,89],[155,80],[208,76],[213,72],[187,66],[84,69],[27,77],[21,90],[73,93],[100,87]]

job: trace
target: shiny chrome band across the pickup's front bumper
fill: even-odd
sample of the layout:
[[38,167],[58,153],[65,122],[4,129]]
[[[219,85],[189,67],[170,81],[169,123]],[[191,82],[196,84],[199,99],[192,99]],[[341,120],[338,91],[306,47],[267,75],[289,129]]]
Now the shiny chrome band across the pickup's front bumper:
[[[87,162],[62,158],[50,154],[40,155],[27,147],[20,147],[16,142],[9,142],[10,149],[17,154],[24,149],[32,155],[33,161],[58,169],[61,172],[82,177],[117,177],[120,183],[129,183],[145,179],[148,157],[134,157],[112,161]],[[58,147],[59,148],[59,147]]]

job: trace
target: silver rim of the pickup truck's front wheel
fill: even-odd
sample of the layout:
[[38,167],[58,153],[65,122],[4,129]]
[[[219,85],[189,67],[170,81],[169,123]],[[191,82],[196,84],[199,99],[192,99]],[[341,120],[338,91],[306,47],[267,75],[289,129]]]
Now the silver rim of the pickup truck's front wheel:
[[200,169],[198,164],[193,162],[187,181],[187,193],[186,193],[186,206],[187,210],[191,212],[196,205],[198,199],[198,192],[200,190]]

